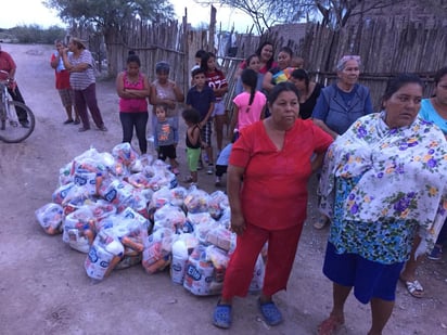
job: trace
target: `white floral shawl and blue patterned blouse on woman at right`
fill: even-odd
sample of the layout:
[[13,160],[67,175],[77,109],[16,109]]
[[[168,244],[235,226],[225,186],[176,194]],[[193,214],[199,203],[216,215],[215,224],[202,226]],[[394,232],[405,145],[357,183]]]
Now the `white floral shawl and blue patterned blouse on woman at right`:
[[[447,216],[447,142],[432,123],[416,118],[408,127],[389,128],[384,115],[382,112],[359,118],[335,140],[327,153],[319,193],[320,210],[329,217],[334,218],[334,208],[342,206],[334,229],[342,221],[362,222],[353,227],[354,233],[368,229],[361,233],[389,248],[389,253],[371,254],[371,244],[359,240],[362,250],[356,253],[391,263],[408,257],[405,254],[409,254],[412,243],[409,234],[416,224],[422,237],[417,256],[436,241]],[[350,179],[352,184],[344,196],[339,190],[336,199],[337,180],[340,185],[345,184],[341,179]],[[378,233],[376,227],[384,222],[391,224],[391,230],[396,222],[400,228],[391,234],[383,229]],[[396,239],[400,242],[394,243]],[[353,240],[344,240],[337,249],[343,253],[350,243]],[[393,248],[408,253],[398,255],[392,253]]]

